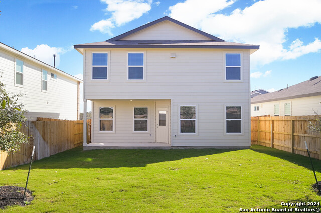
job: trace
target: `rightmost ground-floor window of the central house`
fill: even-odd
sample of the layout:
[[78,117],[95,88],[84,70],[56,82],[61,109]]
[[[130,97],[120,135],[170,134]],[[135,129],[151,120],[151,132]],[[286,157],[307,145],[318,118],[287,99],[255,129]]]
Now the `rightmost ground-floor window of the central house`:
[[242,133],[242,106],[226,106],[226,133]]

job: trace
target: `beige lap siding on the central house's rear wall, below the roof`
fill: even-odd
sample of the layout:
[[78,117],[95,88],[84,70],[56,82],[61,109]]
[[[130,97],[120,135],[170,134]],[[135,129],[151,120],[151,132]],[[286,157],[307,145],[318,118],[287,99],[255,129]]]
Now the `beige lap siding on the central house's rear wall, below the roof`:
[[[106,51],[101,49],[100,51]],[[91,53],[97,50],[85,51],[85,98],[94,100],[95,104],[108,99],[128,100],[171,100],[171,144],[173,146],[249,146],[250,145],[250,108],[249,108],[249,50],[223,49],[108,49],[110,50],[110,82],[93,82],[91,76]],[[146,82],[127,82],[127,52],[145,51]],[[224,80],[224,55],[226,52],[242,54],[242,80],[226,82]],[[170,58],[176,53],[176,58]],[[126,99],[126,100],[125,100]],[[142,139],[154,142],[154,136],[130,133],[126,138],[122,134],[125,128],[117,131],[119,104],[123,113],[127,106],[113,104],[116,107],[116,132],[109,135],[113,141],[131,142]],[[179,106],[197,106],[197,135],[179,135]],[[242,106],[241,135],[225,135],[224,107]],[[108,106],[108,105],[106,105]],[[98,106],[94,106],[94,110]],[[129,106],[128,106],[129,107]],[[130,109],[131,113],[132,109]],[[121,115],[123,116],[123,115]],[[119,121],[120,119],[120,121]],[[150,119],[155,120],[155,114],[150,110]],[[93,118],[95,120],[95,117]],[[150,125],[155,125],[150,120]],[[130,123],[131,124],[131,123]],[[124,123],[123,125],[129,125]],[[128,126],[127,126],[128,127]],[[95,128],[95,127],[94,127]],[[97,128],[97,127],[96,127]],[[128,128],[126,128],[128,129]],[[152,131],[152,128],[150,128]],[[153,132],[151,132],[154,135]],[[119,134],[119,135],[117,135]],[[93,131],[93,142],[106,141],[101,134]],[[117,139],[119,138],[119,139]],[[113,140],[114,139],[114,140]]]

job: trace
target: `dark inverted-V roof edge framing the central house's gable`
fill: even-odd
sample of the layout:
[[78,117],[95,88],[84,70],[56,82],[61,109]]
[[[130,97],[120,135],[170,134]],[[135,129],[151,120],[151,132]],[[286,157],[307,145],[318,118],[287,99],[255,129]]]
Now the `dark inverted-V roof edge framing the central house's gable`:
[[150,26],[153,26],[153,25],[155,25],[155,24],[157,24],[157,23],[161,23],[161,22],[166,21],[166,20],[167,20],[167,21],[171,21],[172,23],[178,24],[178,25],[180,25],[180,26],[182,26],[182,27],[184,27],[184,28],[186,28],[186,29],[192,30],[192,31],[194,31],[194,32],[196,32],[196,33],[198,33],[198,34],[201,34],[201,35],[203,35],[203,36],[205,36],[205,37],[207,37],[207,38],[209,38],[209,39],[211,39],[211,40],[213,40],[213,41],[224,41],[224,40],[222,40],[222,39],[220,39],[220,38],[218,38],[218,37],[215,37],[215,36],[213,36],[213,35],[211,35],[211,34],[208,34],[208,33],[206,33],[206,32],[203,32],[203,31],[201,31],[201,30],[199,30],[199,29],[196,29],[196,28],[194,28],[194,27],[192,27],[192,26],[189,26],[189,25],[187,25],[187,24],[185,24],[185,23],[182,23],[182,22],[180,22],[180,21],[177,21],[177,20],[175,20],[175,19],[173,19],[173,18],[170,18],[170,17],[168,17],[168,16],[164,16],[164,17],[159,18],[159,19],[157,19],[157,20],[155,20],[155,21],[152,21],[152,22],[150,22],[150,23],[146,23],[146,24],[144,24],[144,25],[142,25],[142,26],[140,26],[140,27],[137,27],[137,28],[135,28],[135,29],[132,29],[132,30],[130,30],[130,31],[128,31],[128,32],[125,32],[125,33],[123,33],[123,34],[121,34],[121,35],[118,35],[118,36],[116,36],[116,37],[110,38],[110,39],[108,39],[108,40],[106,40],[106,41],[117,41],[117,40],[120,40],[120,39],[122,39],[122,38],[124,38],[124,37],[127,37],[127,36],[129,36],[129,35],[131,35],[131,34],[134,34],[134,33],[138,32],[138,31],[141,31],[141,30],[143,30],[143,29],[146,29],[146,28],[148,28],[148,27],[150,27]]

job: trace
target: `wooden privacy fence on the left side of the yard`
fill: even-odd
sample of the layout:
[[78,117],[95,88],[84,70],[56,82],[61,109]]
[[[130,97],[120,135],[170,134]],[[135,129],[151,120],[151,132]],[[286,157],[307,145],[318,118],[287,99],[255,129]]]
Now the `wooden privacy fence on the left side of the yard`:
[[[15,154],[0,152],[0,170],[29,163],[33,146],[36,146],[34,160],[39,160],[82,145],[82,120],[48,120],[52,119],[38,118],[22,125],[21,132],[30,136],[29,144],[22,144]],[[87,130],[90,125],[91,120],[87,120]],[[90,140],[88,136],[90,134],[87,134],[87,143]]]

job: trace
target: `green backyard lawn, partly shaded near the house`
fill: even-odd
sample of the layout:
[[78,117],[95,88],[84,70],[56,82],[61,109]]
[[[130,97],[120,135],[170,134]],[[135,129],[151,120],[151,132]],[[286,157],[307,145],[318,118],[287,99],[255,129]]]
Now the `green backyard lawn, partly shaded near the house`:
[[[313,160],[321,180],[321,161]],[[29,165],[0,171],[0,185],[25,186]],[[29,206],[19,212],[239,212],[281,202],[319,202],[307,157],[247,150],[74,148],[35,161]],[[5,210],[5,211],[6,211]]]

